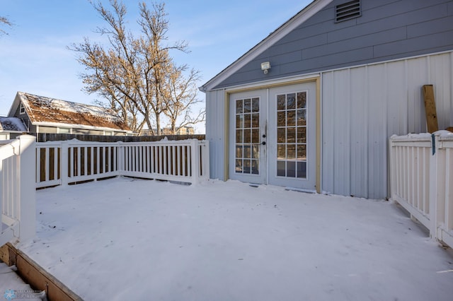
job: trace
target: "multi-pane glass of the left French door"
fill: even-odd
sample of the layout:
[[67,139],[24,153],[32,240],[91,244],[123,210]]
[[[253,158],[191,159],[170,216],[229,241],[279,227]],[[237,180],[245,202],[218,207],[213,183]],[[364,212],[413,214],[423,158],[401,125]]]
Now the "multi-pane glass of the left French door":
[[235,172],[259,175],[260,98],[236,100]]

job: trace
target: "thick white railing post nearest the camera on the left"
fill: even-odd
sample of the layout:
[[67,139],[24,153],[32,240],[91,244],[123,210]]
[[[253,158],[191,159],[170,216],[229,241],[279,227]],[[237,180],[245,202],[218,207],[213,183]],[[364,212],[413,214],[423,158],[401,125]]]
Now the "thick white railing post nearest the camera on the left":
[[[36,233],[35,136],[19,136],[19,238],[28,240]],[[33,171],[31,171],[32,169]]]

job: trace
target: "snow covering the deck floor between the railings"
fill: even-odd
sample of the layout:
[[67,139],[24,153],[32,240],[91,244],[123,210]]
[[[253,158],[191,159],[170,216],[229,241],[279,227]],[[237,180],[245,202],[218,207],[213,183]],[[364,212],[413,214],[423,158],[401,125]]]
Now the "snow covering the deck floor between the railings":
[[210,181],[37,191],[21,250],[86,300],[452,300],[453,254],[393,203]]

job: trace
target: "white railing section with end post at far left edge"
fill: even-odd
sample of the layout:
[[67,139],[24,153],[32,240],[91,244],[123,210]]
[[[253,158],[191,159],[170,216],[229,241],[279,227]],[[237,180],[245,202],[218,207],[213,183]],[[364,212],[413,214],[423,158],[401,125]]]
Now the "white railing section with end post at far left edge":
[[0,146],[0,247],[35,236],[35,137],[19,136]]

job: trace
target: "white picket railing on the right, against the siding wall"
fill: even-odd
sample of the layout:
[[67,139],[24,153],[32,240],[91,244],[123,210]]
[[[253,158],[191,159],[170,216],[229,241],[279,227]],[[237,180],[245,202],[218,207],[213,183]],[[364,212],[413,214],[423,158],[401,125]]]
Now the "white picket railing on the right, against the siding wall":
[[391,198],[453,247],[453,134],[390,138]]

